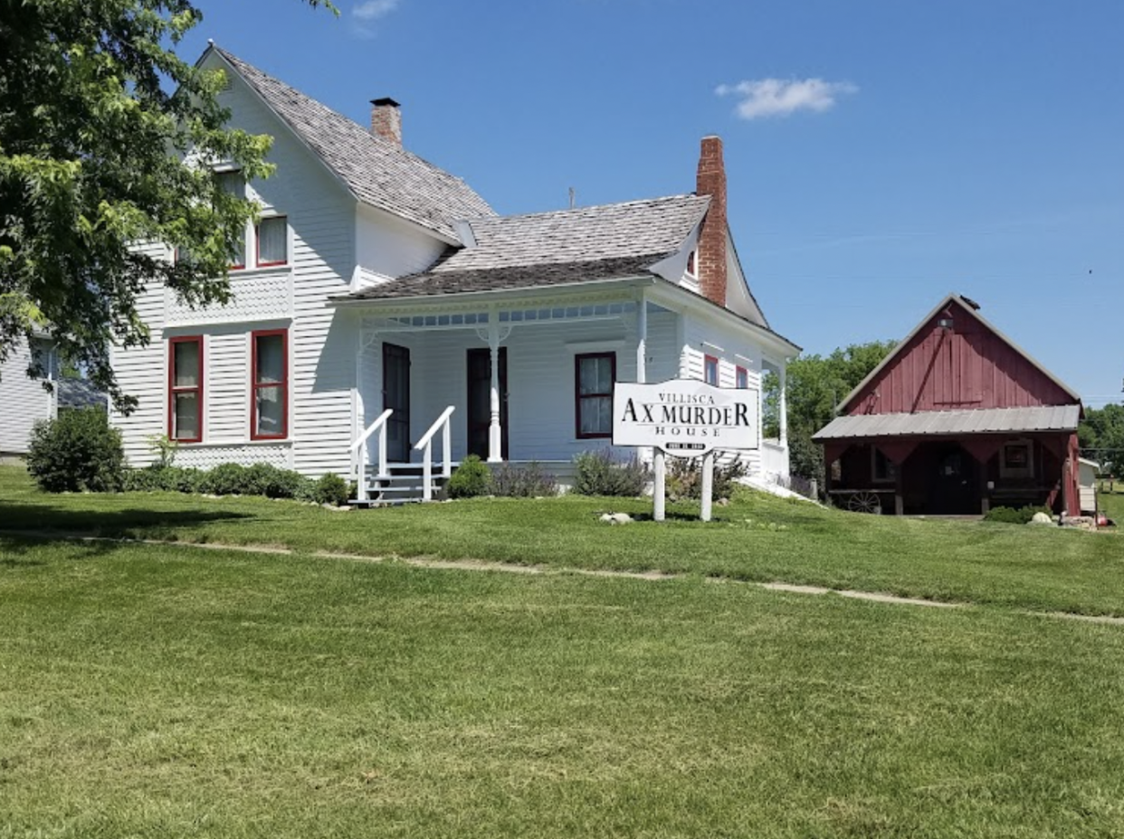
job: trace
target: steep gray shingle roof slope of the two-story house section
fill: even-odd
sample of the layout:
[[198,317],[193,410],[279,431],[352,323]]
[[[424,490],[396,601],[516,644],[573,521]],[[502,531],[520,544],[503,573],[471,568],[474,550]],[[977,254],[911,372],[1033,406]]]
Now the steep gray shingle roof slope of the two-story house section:
[[225,49],[214,49],[363,203],[451,237],[455,237],[453,219],[493,215],[461,179]]

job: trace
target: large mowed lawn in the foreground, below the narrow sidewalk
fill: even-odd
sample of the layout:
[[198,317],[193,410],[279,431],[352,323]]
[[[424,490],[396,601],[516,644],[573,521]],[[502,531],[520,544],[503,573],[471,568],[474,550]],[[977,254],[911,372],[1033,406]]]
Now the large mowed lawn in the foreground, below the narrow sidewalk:
[[1124,835],[1120,626],[0,537],[0,628],[6,839]]

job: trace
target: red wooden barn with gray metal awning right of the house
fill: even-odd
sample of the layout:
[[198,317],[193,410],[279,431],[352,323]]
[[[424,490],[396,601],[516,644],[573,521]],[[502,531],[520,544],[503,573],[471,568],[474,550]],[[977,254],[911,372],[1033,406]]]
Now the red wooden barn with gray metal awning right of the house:
[[978,309],[957,294],[942,300],[814,435],[841,507],[1079,513],[1081,400]]

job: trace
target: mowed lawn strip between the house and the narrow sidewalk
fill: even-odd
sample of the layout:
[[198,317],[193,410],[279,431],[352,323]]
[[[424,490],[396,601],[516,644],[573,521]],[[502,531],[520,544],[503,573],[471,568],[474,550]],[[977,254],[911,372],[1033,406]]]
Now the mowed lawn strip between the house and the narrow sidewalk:
[[[980,521],[896,519],[745,493],[697,521],[609,527],[651,501],[479,499],[329,512],[288,501],[174,493],[46,495],[0,468],[0,532],[52,530],[371,556],[781,581],[1040,611],[1124,614],[1124,537]],[[1124,516],[1117,517],[1124,523]]]

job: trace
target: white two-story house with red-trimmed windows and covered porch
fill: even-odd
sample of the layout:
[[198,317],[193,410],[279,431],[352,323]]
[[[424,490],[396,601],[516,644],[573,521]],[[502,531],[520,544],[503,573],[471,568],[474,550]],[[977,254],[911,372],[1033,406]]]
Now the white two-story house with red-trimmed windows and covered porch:
[[[368,130],[218,47],[200,63],[227,71],[233,125],[275,138],[277,173],[219,170],[262,208],[234,301],[191,310],[154,285],[151,345],[115,354],[139,398],[114,418],[135,465],[165,431],[185,466],[348,475],[447,439],[453,460],[564,472],[608,444],[614,381],[755,386],[799,352],[745,282],[717,137],[694,193],[502,217],[402,148],[393,100]],[[749,463],[787,476],[783,429]]]

